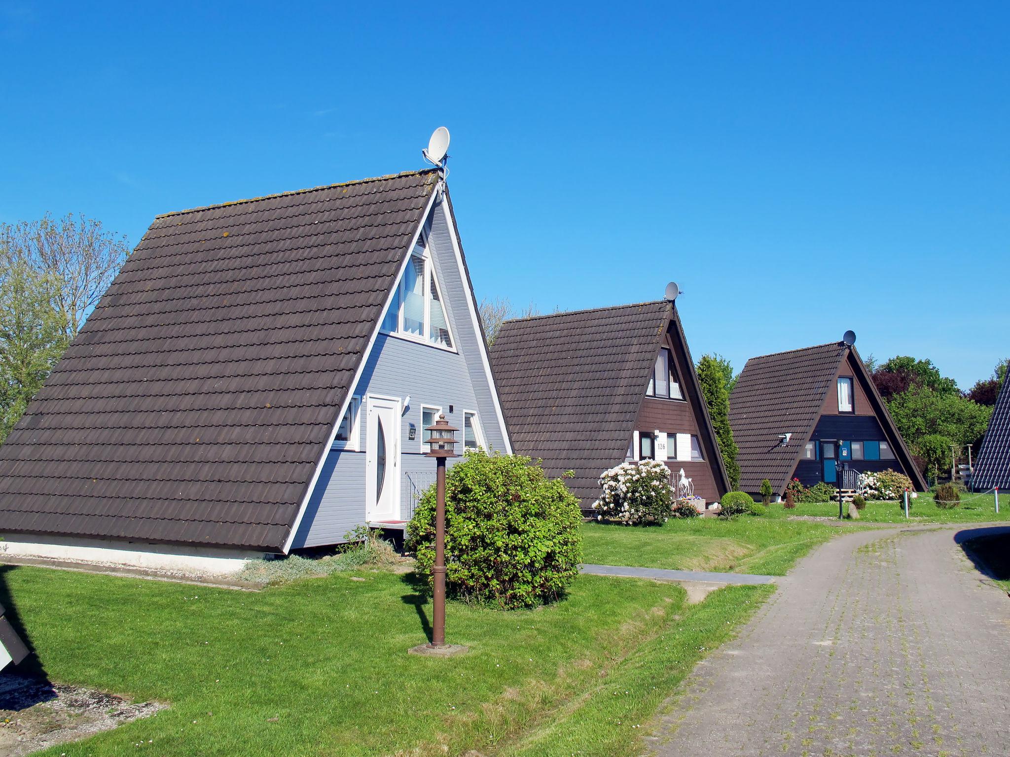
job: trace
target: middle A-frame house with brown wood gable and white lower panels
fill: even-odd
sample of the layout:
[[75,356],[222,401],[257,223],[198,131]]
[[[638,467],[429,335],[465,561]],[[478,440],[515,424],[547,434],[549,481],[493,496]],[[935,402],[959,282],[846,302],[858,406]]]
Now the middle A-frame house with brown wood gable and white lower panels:
[[543,460],[590,510],[624,460],[683,468],[695,495],[729,489],[672,301],[506,321],[491,347],[513,449]]

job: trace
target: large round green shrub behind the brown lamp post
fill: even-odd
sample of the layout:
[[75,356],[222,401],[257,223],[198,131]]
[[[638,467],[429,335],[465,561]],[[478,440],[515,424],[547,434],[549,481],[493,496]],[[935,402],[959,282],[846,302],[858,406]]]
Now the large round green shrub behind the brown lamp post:
[[[579,501],[519,455],[467,452],[445,475],[445,587],[505,610],[557,600],[582,560]],[[435,488],[407,527],[418,572],[432,580]]]

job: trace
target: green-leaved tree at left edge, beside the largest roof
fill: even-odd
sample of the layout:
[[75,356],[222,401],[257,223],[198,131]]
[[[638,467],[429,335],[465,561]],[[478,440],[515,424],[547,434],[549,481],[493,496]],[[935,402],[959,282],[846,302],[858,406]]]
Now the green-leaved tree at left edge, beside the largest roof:
[[53,306],[59,288],[23,260],[0,268],[0,441],[67,348],[67,324]]

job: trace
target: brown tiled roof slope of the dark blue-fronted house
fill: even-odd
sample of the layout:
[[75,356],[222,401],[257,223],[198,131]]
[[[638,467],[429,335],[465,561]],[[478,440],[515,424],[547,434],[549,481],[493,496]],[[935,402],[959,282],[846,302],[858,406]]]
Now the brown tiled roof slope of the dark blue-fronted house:
[[[747,360],[729,400],[740,490],[758,492],[765,478],[776,492],[786,488],[846,349],[832,342]],[[785,433],[793,436],[783,446]]]

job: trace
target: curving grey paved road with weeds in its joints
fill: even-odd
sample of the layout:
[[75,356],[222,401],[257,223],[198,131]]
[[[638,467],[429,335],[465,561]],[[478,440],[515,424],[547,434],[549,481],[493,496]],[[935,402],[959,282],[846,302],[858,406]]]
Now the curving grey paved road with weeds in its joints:
[[819,547],[698,666],[650,749],[1010,754],[1010,599],[957,544],[996,531],[863,531]]

